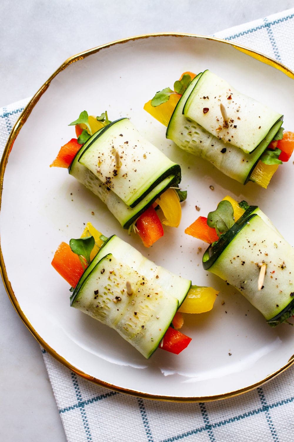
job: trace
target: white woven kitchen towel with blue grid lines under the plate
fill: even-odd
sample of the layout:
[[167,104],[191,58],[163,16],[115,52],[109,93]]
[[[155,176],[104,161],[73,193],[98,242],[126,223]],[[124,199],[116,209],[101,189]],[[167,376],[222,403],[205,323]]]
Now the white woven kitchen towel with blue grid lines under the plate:
[[[294,8],[215,37],[265,53],[294,70]],[[28,101],[0,109],[1,153]],[[294,367],[235,398],[169,403],[94,385],[42,351],[69,442],[283,442],[294,433]]]

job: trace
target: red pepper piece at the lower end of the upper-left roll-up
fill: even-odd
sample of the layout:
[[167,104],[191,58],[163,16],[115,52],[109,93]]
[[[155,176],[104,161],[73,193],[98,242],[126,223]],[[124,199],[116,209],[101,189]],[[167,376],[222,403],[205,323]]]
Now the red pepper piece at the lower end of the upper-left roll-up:
[[150,206],[136,222],[138,235],[145,247],[150,247],[164,235],[164,229],[153,206]]

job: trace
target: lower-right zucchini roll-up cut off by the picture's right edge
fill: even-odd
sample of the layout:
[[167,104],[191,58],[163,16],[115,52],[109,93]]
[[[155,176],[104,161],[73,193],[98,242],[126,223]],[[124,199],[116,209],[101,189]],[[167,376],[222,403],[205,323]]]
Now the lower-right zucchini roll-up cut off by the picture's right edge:
[[[204,221],[205,220],[205,221]],[[224,198],[186,233],[211,242],[202,263],[239,290],[271,326],[294,315],[294,249],[258,206]],[[208,230],[212,241],[207,240]]]

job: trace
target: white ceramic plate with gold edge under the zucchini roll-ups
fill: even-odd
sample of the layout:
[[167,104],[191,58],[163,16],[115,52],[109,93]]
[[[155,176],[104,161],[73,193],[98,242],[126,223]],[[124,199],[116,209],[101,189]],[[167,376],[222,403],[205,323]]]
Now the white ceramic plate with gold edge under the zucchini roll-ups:
[[[157,90],[171,87],[182,72],[211,69],[240,91],[276,107],[285,114],[284,127],[293,130],[289,100],[294,96],[293,73],[240,49],[212,38],[161,34],[79,54],[37,92],[11,135],[1,166],[4,284],[22,320],[45,349],[86,379],[138,396],[203,401],[248,391],[293,362],[292,327],[270,328],[239,293],[202,269],[198,247],[203,251],[205,244],[184,234],[196,217],[205,216],[231,194],[260,205],[294,244],[289,222],[293,161],[279,168],[267,190],[253,183],[244,187],[176,148],[165,139],[164,126],[143,110]],[[60,145],[74,137],[68,123],[84,109],[95,115],[108,110],[110,119],[130,117],[141,133],[182,166],[182,188],[188,190],[188,199],[181,225],[166,228],[150,249],[141,245],[138,236],[128,236],[65,169],[49,168]],[[193,340],[182,354],[158,350],[145,360],[114,331],[70,308],[68,285],[51,260],[60,242],[79,236],[87,221],[106,236],[116,233],[194,284],[220,290],[212,312],[186,315],[183,332]]]

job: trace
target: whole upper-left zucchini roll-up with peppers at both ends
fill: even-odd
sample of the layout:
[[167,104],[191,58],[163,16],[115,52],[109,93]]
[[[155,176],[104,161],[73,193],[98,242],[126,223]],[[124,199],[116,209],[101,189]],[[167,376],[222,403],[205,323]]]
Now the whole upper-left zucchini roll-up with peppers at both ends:
[[[85,111],[82,114],[89,118]],[[128,118],[101,123],[92,117],[89,122],[93,121],[94,130],[76,125],[83,132],[60,149],[51,166],[60,166],[60,157],[67,155],[61,167],[68,167],[69,174],[97,195],[124,229],[134,227],[150,246],[164,234],[162,224],[179,226],[180,199],[185,198],[178,187],[181,168],[142,137]],[[66,149],[71,147],[70,154]],[[156,206],[162,209],[162,222]]]

